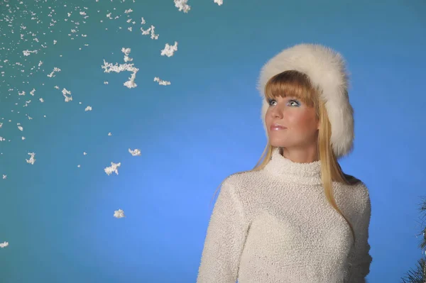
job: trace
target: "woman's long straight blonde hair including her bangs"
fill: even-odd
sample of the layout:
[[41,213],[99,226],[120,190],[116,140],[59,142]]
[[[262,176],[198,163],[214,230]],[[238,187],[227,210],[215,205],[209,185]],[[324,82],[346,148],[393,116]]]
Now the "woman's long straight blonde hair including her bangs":
[[[317,118],[320,120],[320,129],[318,132],[318,155],[321,161],[321,179],[322,187],[324,187],[324,194],[329,204],[346,220],[351,228],[352,236],[354,237],[355,243],[355,232],[354,227],[349,220],[344,216],[342,211],[336,204],[334,199],[332,182],[340,182],[343,184],[356,184],[360,182],[359,179],[352,177],[351,175],[344,174],[342,168],[337,161],[337,157],[334,155],[332,150],[332,144],[330,138],[332,135],[332,125],[329,121],[327,109],[325,108],[324,101],[320,99],[320,89],[312,87],[309,77],[302,72],[295,70],[281,72],[276,74],[274,77],[269,79],[265,86],[265,99],[274,99],[276,96],[285,97],[293,96],[305,102],[310,107],[315,108]],[[238,172],[241,174],[244,172],[260,171],[268,164],[271,160],[272,152],[274,147],[270,145],[269,141],[266,148],[263,150],[261,158],[252,170]],[[262,160],[263,159],[263,160]],[[223,182],[223,181],[222,181]],[[214,196],[217,194],[218,189],[222,186],[222,183],[217,187],[214,192]],[[212,200],[214,199],[214,196]],[[212,204],[212,202],[210,203]]]

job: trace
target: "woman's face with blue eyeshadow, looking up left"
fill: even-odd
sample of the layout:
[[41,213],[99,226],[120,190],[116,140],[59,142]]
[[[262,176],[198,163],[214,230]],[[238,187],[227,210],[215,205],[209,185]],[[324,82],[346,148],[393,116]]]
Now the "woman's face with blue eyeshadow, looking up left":
[[[280,97],[269,101],[265,117],[269,143],[287,150],[316,149],[320,122],[315,109],[295,97]],[[278,123],[281,127],[275,127]]]

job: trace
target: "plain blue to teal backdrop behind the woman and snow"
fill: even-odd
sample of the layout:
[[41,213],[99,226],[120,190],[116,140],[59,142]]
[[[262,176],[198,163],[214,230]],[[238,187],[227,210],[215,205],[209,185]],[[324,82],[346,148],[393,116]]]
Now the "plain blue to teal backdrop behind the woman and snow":
[[[0,4],[1,282],[195,282],[214,190],[266,145],[258,72],[297,43],[329,45],[351,72],[356,140],[341,165],[370,189],[369,282],[400,282],[422,257],[425,1],[190,0],[188,13],[171,0],[18,2]],[[158,40],[141,35],[151,25]],[[175,55],[160,56],[175,41]],[[123,85],[131,72],[101,67],[123,64],[121,48],[139,68],[134,89]],[[119,175],[105,174],[111,162]]]

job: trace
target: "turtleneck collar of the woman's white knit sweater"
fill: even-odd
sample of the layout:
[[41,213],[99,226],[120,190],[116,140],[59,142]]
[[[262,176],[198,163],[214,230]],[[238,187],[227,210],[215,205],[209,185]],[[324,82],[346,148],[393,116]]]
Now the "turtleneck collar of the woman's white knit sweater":
[[322,184],[321,162],[293,162],[283,157],[280,148],[273,148],[271,160],[265,169],[280,179],[297,184]]

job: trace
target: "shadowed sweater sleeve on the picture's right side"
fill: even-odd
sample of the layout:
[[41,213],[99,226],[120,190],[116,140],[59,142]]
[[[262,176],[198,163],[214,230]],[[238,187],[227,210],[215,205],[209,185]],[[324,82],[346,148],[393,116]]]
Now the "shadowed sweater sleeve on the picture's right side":
[[356,221],[355,245],[349,253],[349,274],[346,283],[366,283],[366,276],[370,272],[370,265],[373,258],[370,255],[370,245],[368,244],[368,226],[371,218],[371,200],[368,196],[361,206],[359,220]]

